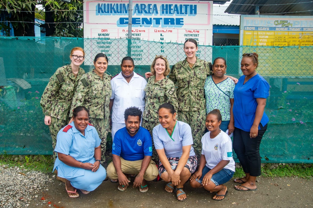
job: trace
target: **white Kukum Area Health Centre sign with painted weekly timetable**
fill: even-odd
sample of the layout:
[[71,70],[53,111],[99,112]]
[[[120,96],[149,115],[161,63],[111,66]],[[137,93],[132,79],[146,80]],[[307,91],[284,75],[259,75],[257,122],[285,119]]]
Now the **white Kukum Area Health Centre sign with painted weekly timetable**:
[[[84,1],[84,38],[93,38],[85,42],[85,64],[92,65],[92,57],[100,52],[117,60],[127,54],[128,11],[125,0]],[[165,51],[159,44],[146,47],[142,40],[184,43],[193,38],[198,44],[212,45],[212,11],[212,1],[133,1],[131,57],[139,64],[156,54],[175,57],[173,62],[184,58],[182,47]]]

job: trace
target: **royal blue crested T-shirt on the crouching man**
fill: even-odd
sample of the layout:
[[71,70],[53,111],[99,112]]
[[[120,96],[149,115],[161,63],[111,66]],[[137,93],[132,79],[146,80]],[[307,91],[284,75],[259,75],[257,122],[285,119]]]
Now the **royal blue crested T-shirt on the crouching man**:
[[130,136],[126,127],[121,128],[115,133],[112,154],[121,156],[127,161],[142,160],[145,156],[152,156],[150,132],[140,126],[135,136]]

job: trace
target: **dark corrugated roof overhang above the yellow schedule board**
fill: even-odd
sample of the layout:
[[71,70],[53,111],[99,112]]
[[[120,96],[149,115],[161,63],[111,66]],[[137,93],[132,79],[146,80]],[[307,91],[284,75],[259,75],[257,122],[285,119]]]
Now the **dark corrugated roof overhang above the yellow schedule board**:
[[313,15],[313,2],[308,0],[233,0],[225,12],[254,14],[256,5],[259,5],[260,14]]

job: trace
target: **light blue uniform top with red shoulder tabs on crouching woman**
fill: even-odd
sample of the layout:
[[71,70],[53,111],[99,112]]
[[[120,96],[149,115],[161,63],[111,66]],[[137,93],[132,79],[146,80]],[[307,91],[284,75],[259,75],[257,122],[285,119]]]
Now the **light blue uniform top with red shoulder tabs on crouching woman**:
[[[69,125],[72,126],[67,132],[62,128],[57,135],[57,144],[54,151],[72,156],[80,162],[95,162],[95,148],[100,146],[100,138],[95,127],[87,125],[85,136],[78,131],[74,126],[74,121]],[[54,162],[54,169],[58,170],[58,176],[62,178],[74,178],[83,176],[85,169],[72,167],[64,164],[59,160],[59,157]]]

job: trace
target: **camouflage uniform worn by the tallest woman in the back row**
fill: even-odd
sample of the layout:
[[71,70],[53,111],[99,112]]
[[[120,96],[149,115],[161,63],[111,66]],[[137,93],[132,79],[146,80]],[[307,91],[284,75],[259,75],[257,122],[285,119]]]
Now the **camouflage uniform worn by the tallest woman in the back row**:
[[177,82],[179,121],[190,125],[193,136],[193,148],[201,156],[201,138],[205,129],[204,83],[211,75],[209,63],[197,57],[192,69],[187,59],[172,67],[169,79]]

